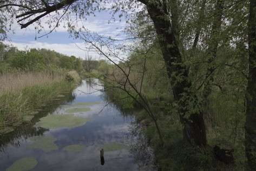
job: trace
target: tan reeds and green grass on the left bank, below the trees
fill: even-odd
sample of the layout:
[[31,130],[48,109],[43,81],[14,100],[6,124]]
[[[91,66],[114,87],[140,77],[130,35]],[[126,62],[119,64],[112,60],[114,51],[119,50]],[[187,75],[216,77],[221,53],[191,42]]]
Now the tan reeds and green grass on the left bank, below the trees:
[[74,72],[66,75],[30,72],[0,76],[0,135],[30,122],[42,107],[72,91],[80,81]]

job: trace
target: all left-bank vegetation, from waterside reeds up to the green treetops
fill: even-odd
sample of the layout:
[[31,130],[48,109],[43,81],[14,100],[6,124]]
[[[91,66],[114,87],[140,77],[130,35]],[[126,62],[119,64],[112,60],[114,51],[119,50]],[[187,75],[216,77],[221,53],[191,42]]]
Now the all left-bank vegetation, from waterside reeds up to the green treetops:
[[[29,122],[45,105],[68,94],[104,61],[81,60],[47,49],[21,51],[0,44],[0,134]],[[73,70],[73,71],[72,71]]]

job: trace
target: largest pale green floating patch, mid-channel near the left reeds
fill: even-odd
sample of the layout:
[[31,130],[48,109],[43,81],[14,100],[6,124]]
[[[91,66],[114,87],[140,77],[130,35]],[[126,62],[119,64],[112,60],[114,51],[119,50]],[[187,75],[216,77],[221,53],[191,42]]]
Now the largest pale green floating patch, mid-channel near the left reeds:
[[48,115],[42,117],[37,125],[43,128],[75,128],[84,125],[88,119],[74,114]]

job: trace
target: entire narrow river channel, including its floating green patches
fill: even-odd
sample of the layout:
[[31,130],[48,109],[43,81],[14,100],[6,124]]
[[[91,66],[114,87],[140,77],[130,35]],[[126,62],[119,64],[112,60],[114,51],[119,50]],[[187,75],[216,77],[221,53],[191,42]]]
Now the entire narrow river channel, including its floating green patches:
[[154,170],[152,158],[134,149],[133,116],[109,104],[91,81],[97,82],[84,80],[71,100],[1,136],[0,170]]

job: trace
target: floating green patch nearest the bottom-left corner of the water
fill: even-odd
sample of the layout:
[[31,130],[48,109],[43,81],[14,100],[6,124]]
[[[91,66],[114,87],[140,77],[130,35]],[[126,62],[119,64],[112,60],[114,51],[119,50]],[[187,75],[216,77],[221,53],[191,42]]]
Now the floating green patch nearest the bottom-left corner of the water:
[[24,157],[15,161],[6,171],[27,171],[35,168],[37,161],[34,157]]

